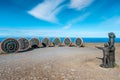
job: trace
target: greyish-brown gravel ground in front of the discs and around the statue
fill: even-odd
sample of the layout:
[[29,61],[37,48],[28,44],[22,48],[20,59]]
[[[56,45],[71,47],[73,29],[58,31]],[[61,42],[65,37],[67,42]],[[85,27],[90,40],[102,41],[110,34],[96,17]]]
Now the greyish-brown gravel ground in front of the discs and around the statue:
[[[120,80],[120,67],[99,67],[102,61],[96,57],[102,58],[102,51],[92,44],[87,46],[2,54],[0,80]],[[119,64],[120,54],[116,55]]]

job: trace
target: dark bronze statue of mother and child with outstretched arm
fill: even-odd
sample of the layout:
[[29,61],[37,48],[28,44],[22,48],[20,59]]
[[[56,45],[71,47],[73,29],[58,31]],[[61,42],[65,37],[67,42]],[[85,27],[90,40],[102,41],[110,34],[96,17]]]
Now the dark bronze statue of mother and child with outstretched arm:
[[97,47],[103,50],[103,58],[101,67],[113,68],[115,66],[115,34],[113,32],[108,33],[109,41],[104,44],[104,47]]

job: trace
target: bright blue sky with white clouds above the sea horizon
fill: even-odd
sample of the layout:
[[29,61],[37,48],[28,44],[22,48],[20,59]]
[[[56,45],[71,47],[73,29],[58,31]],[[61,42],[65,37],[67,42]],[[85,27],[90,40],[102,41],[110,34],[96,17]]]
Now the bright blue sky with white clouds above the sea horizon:
[[120,37],[120,0],[0,0],[0,37]]

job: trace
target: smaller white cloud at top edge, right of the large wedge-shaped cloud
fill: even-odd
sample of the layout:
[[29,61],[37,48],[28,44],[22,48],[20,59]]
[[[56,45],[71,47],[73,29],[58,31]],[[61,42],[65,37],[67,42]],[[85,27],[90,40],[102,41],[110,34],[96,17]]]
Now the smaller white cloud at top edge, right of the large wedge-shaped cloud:
[[71,0],[69,7],[77,10],[81,10],[89,6],[94,0]]

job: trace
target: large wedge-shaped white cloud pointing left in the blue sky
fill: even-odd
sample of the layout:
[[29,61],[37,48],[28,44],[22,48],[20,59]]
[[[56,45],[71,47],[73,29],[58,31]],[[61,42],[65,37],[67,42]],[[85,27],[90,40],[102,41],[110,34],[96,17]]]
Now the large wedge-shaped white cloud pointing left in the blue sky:
[[28,11],[32,16],[49,22],[57,22],[56,15],[62,7],[58,7],[64,0],[45,0]]

